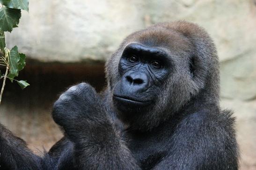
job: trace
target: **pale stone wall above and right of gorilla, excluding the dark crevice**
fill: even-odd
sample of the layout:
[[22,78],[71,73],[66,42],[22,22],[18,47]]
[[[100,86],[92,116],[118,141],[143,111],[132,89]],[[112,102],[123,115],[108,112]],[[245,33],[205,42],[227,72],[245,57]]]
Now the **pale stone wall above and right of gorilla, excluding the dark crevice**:
[[30,0],[7,44],[44,62],[104,61],[128,34],[172,20],[196,22],[215,41],[241,169],[256,170],[256,0]]

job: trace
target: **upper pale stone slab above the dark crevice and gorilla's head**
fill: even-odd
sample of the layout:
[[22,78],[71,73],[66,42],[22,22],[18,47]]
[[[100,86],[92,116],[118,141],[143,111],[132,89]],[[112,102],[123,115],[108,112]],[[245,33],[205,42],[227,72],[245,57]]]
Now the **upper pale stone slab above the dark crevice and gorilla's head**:
[[172,20],[205,27],[221,60],[256,51],[253,0],[30,0],[7,40],[42,61],[102,60],[126,35]]

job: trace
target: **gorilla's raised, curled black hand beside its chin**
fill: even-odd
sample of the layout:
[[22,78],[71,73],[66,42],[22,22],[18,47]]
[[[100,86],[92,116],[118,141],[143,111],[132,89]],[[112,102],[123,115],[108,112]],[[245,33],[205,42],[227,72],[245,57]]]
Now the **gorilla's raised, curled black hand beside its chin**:
[[94,136],[100,129],[105,132],[101,127],[110,124],[100,97],[87,83],[73,86],[60,95],[54,103],[52,117],[71,140],[84,135]]

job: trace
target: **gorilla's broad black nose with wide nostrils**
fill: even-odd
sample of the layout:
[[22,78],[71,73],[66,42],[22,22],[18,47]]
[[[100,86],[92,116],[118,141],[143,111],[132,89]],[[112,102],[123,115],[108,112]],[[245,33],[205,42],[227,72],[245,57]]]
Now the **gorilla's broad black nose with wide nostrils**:
[[130,87],[135,91],[136,90],[145,90],[149,85],[149,80],[145,73],[139,73],[136,71],[128,71],[124,75],[123,83],[126,84],[126,87]]

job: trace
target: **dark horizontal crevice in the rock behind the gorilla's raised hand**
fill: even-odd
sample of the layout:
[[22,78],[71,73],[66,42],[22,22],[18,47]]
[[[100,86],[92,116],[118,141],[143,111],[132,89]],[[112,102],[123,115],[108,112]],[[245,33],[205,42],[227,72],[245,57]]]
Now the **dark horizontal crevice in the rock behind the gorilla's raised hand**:
[[[2,67],[1,71],[3,73],[5,69]],[[100,91],[105,86],[104,63],[44,63],[27,60],[26,67],[16,79],[27,80],[30,86],[22,90],[15,82],[7,80],[2,104],[49,108],[61,92],[79,82],[88,82]]]

